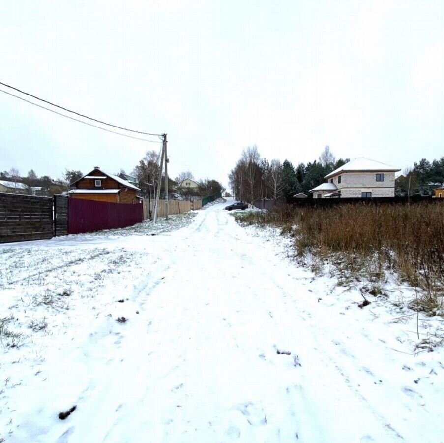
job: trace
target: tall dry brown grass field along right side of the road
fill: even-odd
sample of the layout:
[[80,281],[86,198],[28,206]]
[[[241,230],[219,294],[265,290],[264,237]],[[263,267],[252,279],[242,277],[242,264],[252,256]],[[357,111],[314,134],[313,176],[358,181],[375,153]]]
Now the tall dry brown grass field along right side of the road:
[[[276,207],[242,217],[247,224],[271,224],[290,233],[298,255],[335,257],[343,269],[365,267],[373,276],[396,271],[422,289],[416,309],[442,307],[444,293],[444,204],[341,204],[332,207]],[[370,272],[370,271],[369,271]],[[376,279],[377,280],[377,279]],[[379,292],[378,283],[374,290]]]

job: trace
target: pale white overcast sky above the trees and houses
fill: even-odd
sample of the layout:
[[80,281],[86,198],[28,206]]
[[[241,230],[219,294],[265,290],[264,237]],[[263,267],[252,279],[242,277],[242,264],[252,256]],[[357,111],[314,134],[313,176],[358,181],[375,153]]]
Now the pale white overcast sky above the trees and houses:
[[[168,133],[169,173],[225,186],[241,150],[399,168],[444,156],[444,1],[2,1],[0,81]],[[131,171],[159,144],[0,93],[0,170]]]

